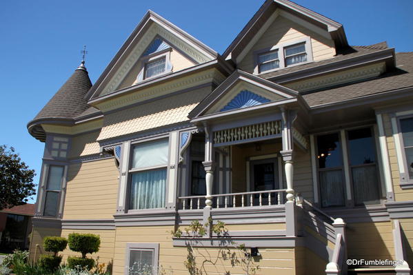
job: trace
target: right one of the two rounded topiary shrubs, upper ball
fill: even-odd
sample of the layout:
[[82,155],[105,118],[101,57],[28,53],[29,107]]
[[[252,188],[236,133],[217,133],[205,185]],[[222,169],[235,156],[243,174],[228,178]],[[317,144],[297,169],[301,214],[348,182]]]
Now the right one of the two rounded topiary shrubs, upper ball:
[[69,248],[75,252],[81,252],[82,258],[86,258],[86,254],[99,251],[101,238],[94,234],[69,234]]

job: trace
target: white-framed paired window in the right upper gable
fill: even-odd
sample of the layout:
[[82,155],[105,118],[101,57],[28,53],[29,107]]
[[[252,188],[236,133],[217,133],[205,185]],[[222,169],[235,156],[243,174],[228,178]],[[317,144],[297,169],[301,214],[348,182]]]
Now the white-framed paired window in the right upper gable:
[[312,61],[310,37],[255,52],[254,74],[265,74]]

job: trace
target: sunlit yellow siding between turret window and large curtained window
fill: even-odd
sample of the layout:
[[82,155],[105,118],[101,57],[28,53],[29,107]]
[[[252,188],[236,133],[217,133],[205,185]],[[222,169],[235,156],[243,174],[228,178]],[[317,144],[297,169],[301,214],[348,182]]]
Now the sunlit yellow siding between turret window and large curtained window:
[[70,165],[63,219],[113,218],[118,176],[114,159]]

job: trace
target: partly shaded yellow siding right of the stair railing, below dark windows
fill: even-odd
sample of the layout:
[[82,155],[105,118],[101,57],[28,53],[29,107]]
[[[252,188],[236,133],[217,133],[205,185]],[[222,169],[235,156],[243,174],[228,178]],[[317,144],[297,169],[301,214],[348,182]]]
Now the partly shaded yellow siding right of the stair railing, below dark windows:
[[380,223],[347,223],[348,258],[394,259],[390,221]]

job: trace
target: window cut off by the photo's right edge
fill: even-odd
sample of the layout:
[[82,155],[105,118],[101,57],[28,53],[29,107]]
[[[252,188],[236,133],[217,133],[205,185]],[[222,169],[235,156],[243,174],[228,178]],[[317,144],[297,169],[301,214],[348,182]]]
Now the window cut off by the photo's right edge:
[[[400,132],[403,138],[403,150],[409,179],[413,179],[413,117],[400,119]],[[406,175],[407,176],[407,175]]]

